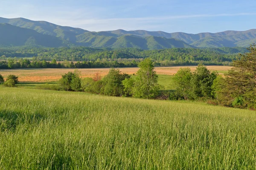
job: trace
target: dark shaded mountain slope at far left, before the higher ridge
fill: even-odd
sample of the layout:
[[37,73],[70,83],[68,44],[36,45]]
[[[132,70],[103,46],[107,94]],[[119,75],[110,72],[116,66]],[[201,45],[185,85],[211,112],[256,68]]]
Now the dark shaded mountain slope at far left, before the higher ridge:
[[0,23],[0,45],[2,46],[45,46],[61,47],[64,42],[57,37],[40,34],[37,31]]

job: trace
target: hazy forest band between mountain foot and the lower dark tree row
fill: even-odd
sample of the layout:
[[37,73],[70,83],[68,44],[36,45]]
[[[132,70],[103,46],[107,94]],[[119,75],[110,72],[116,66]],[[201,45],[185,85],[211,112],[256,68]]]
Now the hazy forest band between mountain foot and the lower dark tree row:
[[[98,49],[88,47],[75,48],[0,48],[0,59],[9,57],[31,57],[32,61],[96,61],[97,59],[145,59],[156,62],[175,61],[211,62],[214,65],[228,65],[239,53],[247,52],[246,48],[170,48],[162,50],[141,50],[136,48]],[[163,65],[166,64],[163,62]]]

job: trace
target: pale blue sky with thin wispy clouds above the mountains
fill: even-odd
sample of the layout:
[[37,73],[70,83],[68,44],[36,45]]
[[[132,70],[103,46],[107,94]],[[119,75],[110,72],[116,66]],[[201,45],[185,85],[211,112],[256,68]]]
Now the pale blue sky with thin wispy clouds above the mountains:
[[186,32],[256,28],[256,0],[0,0],[0,17],[88,31]]

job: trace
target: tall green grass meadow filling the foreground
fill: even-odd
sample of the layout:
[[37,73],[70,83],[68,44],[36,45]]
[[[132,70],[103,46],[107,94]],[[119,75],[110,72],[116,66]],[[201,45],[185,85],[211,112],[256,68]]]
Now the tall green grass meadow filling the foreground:
[[256,113],[0,86],[0,169],[256,169]]

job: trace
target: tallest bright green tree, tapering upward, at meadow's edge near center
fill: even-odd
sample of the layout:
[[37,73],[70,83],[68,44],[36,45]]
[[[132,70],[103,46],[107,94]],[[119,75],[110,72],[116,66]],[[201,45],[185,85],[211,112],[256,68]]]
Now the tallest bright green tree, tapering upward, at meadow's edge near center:
[[144,59],[139,63],[140,69],[134,82],[134,96],[137,98],[151,99],[158,95],[160,85],[157,83],[158,76],[154,71],[151,59]]

